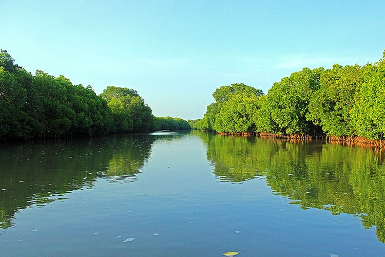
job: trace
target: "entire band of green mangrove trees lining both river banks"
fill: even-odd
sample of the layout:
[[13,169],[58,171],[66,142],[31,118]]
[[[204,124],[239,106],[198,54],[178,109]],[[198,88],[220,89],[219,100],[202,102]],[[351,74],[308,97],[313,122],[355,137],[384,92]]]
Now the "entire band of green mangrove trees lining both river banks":
[[[385,51],[383,52],[385,58]],[[303,68],[267,95],[244,84],[221,86],[202,119],[155,117],[134,89],[91,86],[35,75],[0,52],[0,141],[99,136],[157,130],[215,132],[287,140],[320,139],[385,148],[385,60],[364,66]]]

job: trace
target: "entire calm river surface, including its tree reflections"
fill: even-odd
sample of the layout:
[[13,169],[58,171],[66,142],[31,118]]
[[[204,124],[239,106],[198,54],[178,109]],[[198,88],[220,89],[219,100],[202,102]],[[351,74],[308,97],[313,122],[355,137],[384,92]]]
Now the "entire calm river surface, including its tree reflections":
[[378,256],[370,149],[198,132],[0,148],[0,255]]

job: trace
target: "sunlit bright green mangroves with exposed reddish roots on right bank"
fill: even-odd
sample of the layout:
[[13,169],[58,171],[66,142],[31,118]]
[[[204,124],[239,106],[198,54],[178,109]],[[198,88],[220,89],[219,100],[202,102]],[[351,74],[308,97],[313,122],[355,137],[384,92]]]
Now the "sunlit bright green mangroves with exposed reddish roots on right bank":
[[[385,58],[385,51],[383,52]],[[337,140],[381,140],[385,133],[385,60],[363,67],[304,68],[264,95],[244,84],[222,86],[192,128]]]

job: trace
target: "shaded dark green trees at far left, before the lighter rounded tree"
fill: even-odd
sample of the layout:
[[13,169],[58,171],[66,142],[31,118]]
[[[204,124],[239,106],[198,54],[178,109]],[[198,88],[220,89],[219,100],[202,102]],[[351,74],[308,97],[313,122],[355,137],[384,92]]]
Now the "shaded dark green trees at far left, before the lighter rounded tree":
[[14,64],[5,50],[0,56],[0,138],[99,135],[110,130],[106,102],[90,86],[72,85],[41,70],[33,76]]

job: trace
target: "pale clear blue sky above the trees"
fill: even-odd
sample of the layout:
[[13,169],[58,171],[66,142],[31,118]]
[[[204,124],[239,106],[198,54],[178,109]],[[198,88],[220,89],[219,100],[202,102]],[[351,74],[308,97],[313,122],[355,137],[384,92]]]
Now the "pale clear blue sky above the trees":
[[216,88],[264,93],[303,67],[376,62],[385,1],[0,1],[0,48],[32,73],[136,89],[201,118]]

